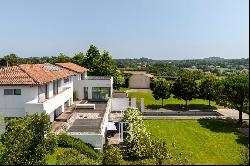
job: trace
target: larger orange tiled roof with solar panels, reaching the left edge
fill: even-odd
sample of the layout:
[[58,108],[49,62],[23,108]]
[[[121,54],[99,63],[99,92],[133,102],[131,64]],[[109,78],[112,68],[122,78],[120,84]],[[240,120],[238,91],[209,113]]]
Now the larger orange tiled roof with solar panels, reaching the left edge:
[[40,85],[75,74],[57,65],[22,64],[0,69],[0,85]]

